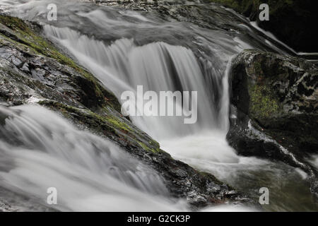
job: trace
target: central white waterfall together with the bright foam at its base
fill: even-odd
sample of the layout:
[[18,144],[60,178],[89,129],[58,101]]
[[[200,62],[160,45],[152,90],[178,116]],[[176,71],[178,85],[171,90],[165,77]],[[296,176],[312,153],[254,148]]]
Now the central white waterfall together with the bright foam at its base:
[[[192,50],[185,47],[164,42],[136,46],[134,40],[128,39],[116,40],[106,46],[103,42],[69,28],[56,28],[52,25],[46,25],[45,32],[52,40],[66,47],[118,98],[124,90],[136,91],[137,85],[157,93],[162,90],[197,91],[199,116],[196,124],[184,124],[177,117],[131,119],[143,131],[160,141],[163,150],[196,167],[201,160],[211,163],[239,162],[240,157],[225,141],[228,131],[230,69],[227,62],[230,55],[225,59],[216,58],[216,66],[206,62],[213,73],[205,80],[206,71],[202,71]],[[237,49],[242,50],[239,44]],[[212,88],[216,90],[209,90]],[[209,101],[217,93],[218,105]]]

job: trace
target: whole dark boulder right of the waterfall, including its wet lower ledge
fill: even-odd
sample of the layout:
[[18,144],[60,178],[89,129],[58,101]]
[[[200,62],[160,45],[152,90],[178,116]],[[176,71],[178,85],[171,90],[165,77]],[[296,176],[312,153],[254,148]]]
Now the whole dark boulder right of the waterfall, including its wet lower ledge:
[[306,162],[318,152],[317,67],[304,59],[245,50],[233,61],[230,77],[230,145],[241,155],[300,167],[318,194],[317,169]]

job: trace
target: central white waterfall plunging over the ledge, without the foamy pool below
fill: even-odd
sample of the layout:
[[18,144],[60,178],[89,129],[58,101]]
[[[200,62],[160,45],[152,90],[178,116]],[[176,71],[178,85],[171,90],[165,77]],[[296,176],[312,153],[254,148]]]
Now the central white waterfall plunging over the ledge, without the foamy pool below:
[[[69,28],[45,25],[45,32],[64,45],[83,66],[92,71],[112,92],[197,91],[198,121],[184,124],[177,117],[131,117],[134,123],[157,139],[183,137],[211,129],[225,129],[228,121],[228,80],[213,66],[201,69],[191,49],[165,42],[137,46],[134,40],[119,39],[109,46]],[[226,73],[225,73],[226,74]],[[205,79],[206,78],[206,79]],[[213,90],[210,90],[213,89]],[[216,104],[217,103],[217,104]],[[180,105],[182,105],[180,103]]]

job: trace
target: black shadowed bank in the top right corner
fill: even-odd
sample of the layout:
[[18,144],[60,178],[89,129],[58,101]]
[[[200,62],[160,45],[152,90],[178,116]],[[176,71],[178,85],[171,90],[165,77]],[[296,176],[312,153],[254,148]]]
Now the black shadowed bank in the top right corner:
[[[316,37],[312,35],[317,21],[316,7],[310,0],[204,0],[217,2],[243,13],[257,21],[264,30],[274,35],[298,52],[318,52]],[[259,5],[269,4],[269,20],[259,21]]]

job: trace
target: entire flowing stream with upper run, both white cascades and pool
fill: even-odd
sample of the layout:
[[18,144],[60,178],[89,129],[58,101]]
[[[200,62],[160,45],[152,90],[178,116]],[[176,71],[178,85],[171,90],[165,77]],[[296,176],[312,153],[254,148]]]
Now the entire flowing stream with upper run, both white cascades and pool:
[[[54,22],[46,20],[50,3],[58,6]],[[195,124],[184,124],[182,117],[131,117],[172,157],[211,172],[256,200],[259,189],[268,187],[271,198],[266,210],[317,210],[305,172],[280,162],[240,157],[225,141],[232,57],[247,48],[288,54],[245,20],[237,28],[249,35],[167,20],[155,11],[78,1],[3,4],[13,15],[42,23],[47,37],[119,100],[126,90],[136,93],[137,85],[156,93],[197,91]],[[109,141],[77,131],[40,107],[0,111],[10,115],[0,127],[0,179],[6,184],[45,198],[46,194],[39,194],[54,182],[62,192],[60,210],[187,210],[184,201],[167,198],[158,174]]]

